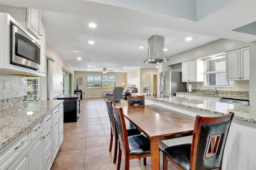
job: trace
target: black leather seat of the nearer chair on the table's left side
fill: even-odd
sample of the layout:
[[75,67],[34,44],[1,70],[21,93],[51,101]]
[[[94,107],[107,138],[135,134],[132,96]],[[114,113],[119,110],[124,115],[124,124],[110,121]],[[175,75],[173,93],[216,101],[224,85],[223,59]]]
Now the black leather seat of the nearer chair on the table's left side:
[[128,136],[130,155],[150,153],[150,140],[145,134]]

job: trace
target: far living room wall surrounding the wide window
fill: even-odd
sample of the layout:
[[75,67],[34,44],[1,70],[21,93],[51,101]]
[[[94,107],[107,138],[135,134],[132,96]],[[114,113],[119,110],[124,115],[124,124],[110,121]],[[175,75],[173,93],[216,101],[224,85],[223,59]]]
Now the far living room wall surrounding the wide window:
[[122,83],[125,83],[125,88],[127,88],[126,83],[126,73],[114,73],[108,72],[103,74],[102,72],[90,72],[90,71],[75,71],[74,72],[74,84],[73,84],[73,91],[76,89],[76,80],[79,77],[82,77],[82,85],[79,85],[79,90],[82,90],[83,97],[102,97],[103,91],[108,91],[108,89],[88,89],[87,88],[87,76],[115,76],[116,78],[116,87],[121,86]]

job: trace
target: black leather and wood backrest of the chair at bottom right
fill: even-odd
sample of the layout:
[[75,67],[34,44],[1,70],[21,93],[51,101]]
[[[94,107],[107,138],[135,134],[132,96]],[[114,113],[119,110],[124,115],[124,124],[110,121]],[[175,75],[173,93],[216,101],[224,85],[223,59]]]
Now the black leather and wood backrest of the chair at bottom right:
[[218,117],[196,116],[190,169],[221,168],[222,156],[234,113]]

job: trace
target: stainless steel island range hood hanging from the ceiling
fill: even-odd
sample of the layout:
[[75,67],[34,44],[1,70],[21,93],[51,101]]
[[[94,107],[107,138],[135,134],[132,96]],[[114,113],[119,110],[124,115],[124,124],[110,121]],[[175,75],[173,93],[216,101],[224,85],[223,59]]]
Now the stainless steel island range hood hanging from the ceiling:
[[144,63],[158,64],[170,59],[164,58],[164,36],[153,35],[148,39],[148,58]]

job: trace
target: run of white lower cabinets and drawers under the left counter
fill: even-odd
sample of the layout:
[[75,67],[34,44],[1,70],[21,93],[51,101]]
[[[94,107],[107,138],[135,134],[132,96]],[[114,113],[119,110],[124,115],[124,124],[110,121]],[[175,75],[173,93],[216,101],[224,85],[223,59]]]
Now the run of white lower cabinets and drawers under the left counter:
[[50,170],[62,141],[63,103],[0,150],[0,170]]

